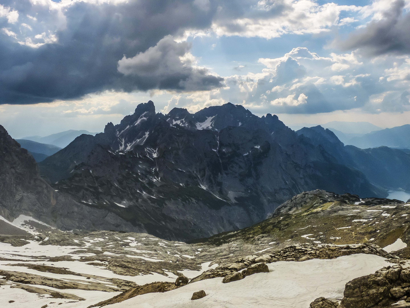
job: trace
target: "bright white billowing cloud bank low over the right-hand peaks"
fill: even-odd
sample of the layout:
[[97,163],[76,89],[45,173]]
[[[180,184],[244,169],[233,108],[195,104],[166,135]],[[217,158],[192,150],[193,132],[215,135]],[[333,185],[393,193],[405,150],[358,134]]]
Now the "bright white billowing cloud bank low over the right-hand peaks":
[[[410,110],[410,58],[386,56],[371,61],[357,51],[318,55],[304,47],[293,48],[282,57],[259,59],[265,65],[259,73],[225,77],[225,87],[174,96],[164,111],[175,106],[197,111],[227,101],[258,114]],[[335,71],[334,64],[348,67]]]

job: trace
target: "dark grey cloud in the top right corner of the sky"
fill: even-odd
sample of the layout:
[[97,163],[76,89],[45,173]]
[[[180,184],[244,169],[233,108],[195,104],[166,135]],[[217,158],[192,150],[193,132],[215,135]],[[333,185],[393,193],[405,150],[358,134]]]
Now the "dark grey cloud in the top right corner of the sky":
[[370,55],[410,53],[410,13],[403,15],[403,0],[396,0],[380,21],[372,21],[363,30],[339,43],[346,49],[363,48]]

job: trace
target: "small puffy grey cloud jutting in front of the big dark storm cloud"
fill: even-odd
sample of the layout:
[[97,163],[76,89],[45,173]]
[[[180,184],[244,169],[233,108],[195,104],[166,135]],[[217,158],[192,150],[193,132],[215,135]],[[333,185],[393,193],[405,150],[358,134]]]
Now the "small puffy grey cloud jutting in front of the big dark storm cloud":
[[210,90],[221,87],[223,78],[196,65],[191,44],[176,42],[170,35],[134,57],[118,61],[118,71],[131,76],[141,90]]

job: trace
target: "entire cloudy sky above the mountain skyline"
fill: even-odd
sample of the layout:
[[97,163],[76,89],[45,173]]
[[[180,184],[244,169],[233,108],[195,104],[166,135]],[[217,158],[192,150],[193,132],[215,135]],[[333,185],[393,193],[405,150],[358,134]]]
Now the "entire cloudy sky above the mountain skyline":
[[103,131],[152,100],[410,124],[410,0],[0,0],[0,124]]

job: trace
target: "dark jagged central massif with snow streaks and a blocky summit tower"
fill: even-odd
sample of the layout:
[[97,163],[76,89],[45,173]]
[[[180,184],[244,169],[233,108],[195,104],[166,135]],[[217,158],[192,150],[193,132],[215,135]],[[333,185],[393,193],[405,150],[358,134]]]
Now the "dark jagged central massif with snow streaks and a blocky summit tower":
[[39,168],[66,198],[166,239],[252,225],[301,191],[386,195],[276,115],[260,118],[231,103],[167,115],[152,101],[140,104]]

